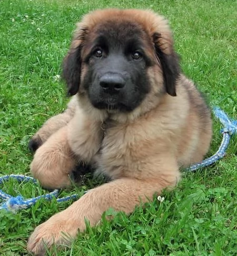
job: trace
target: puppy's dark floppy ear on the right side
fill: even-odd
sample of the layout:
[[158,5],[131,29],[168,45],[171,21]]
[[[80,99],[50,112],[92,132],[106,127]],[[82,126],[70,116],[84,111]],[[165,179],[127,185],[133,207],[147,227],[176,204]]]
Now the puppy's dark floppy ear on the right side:
[[177,54],[174,52],[172,45],[169,46],[171,47],[170,51],[167,51],[167,49],[165,50],[162,48],[161,42],[163,40],[164,39],[161,38],[161,34],[153,34],[155,54],[157,57],[157,61],[159,61],[159,63],[161,64],[165,90],[171,96],[176,96],[175,84],[177,78],[180,75],[179,58]]

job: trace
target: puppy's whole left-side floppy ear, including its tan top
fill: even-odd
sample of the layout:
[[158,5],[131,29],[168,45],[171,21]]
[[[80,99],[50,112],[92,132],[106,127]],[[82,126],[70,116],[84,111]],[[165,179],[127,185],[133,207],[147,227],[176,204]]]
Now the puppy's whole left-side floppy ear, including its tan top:
[[75,32],[71,48],[63,60],[63,79],[67,84],[67,95],[72,96],[78,92],[81,77],[81,52],[86,34],[86,28],[80,28]]

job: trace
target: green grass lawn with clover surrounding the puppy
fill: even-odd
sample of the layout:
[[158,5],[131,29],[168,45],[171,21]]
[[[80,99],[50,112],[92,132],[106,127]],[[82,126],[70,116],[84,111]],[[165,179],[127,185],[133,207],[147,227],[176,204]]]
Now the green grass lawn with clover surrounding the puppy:
[[[43,122],[61,112],[64,85],[57,81],[61,60],[75,23],[95,8],[152,8],[166,16],[184,73],[218,105],[237,119],[236,1],[56,1],[0,2],[0,172],[29,174],[32,155],[27,142]],[[221,142],[214,122],[210,154]],[[79,234],[71,248],[55,255],[236,255],[237,136],[226,157],[196,173],[184,173],[178,187],[133,214],[115,215]],[[83,194],[95,184],[62,194]],[[32,198],[44,193],[32,183],[1,185],[7,193]],[[44,200],[17,214],[0,211],[0,255],[26,255],[26,241],[36,225],[71,202]],[[48,253],[48,255],[53,255]]]

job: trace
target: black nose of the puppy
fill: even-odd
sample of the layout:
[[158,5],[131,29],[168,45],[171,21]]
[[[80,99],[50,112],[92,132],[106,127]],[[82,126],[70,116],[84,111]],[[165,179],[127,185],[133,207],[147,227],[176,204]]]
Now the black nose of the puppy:
[[115,94],[125,86],[124,78],[119,74],[105,74],[99,80],[100,86],[104,92]]

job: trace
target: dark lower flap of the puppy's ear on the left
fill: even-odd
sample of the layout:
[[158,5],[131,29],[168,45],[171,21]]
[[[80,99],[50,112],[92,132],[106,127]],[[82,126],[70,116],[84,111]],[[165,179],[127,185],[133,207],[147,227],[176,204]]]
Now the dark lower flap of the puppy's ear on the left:
[[67,95],[78,92],[81,76],[81,45],[71,49],[63,60],[63,79],[67,84]]

